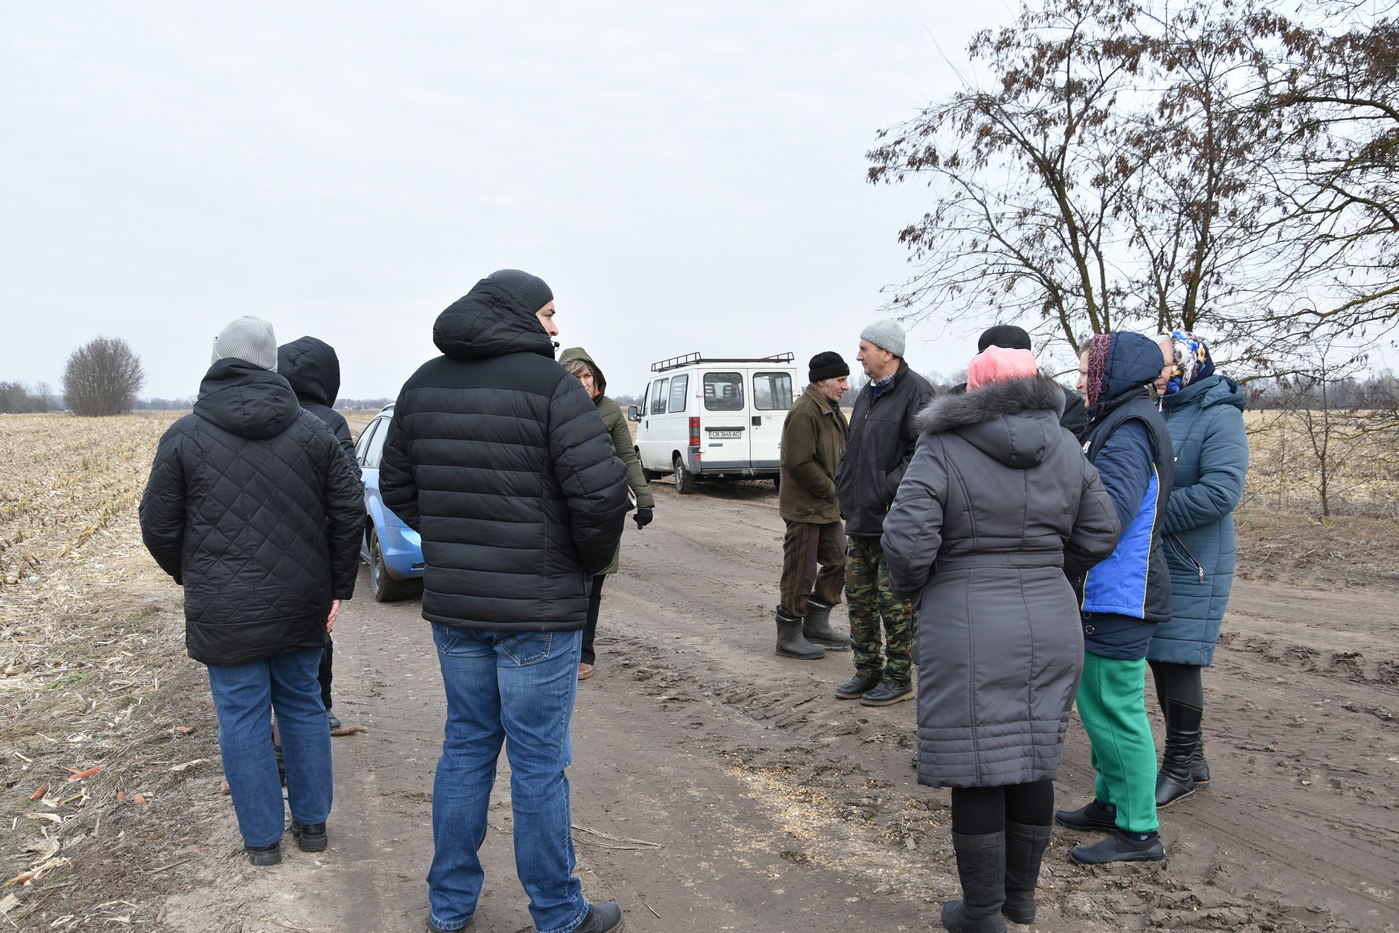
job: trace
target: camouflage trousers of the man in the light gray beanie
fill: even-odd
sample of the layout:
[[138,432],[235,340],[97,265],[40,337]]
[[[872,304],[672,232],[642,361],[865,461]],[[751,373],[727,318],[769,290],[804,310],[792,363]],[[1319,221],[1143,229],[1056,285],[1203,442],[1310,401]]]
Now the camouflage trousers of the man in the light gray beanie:
[[[877,537],[849,536],[845,554],[845,604],[851,613],[855,670],[901,684],[912,677],[914,606],[894,596],[888,564]],[[883,631],[880,631],[883,622]],[[887,642],[887,662],[880,648]]]

